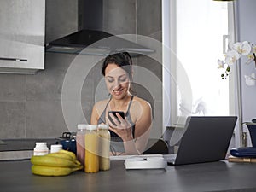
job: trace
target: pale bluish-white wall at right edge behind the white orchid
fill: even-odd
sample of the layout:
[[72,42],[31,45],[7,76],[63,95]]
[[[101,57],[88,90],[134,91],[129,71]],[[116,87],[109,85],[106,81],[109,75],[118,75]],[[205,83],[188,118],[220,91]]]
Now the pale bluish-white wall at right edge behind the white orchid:
[[[249,41],[256,44],[256,1],[237,0],[236,4],[236,41]],[[255,63],[247,65],[245,57],[241,58],[241,110],[242,122],[256,119],[256,85],[247,86],[244,75],[256,73]],[[244,125],[244,131],[247,131]],[[248,138],[248,144],[250,139]]]

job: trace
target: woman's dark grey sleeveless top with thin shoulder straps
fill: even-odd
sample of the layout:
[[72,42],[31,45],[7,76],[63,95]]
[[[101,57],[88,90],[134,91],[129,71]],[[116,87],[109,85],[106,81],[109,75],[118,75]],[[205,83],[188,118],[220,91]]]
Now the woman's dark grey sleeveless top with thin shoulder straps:
[[[128,109],[127,109],[127,111],[126,111],[126,113],[125,113],[125,117],[126,117],[127,121],[131,124],[132,136],[134,137],[135,125],[134,125],[134,123],[131,121],[131,114],[130,114],[131,102],[132,102],[132,100],[133,100],[133,97],[134,97],[134,96],[131,96],[131,100],[130,100],[130,102],[129,102]],[[102,124],[102,123],[103,123],[103,124],[106,123],[106,110],[107,110],[107,108],[108,108],[108,104],[109,104],[110,101],[111,101],[111,98],[109,99],[109,101],[108,101],[106,107],[104,108],[104,110],[103,110],[103,112],[102,112],[102,114],[101,114],[101,116],[100,116],[100,119],[98,119],[98,125],[99,125],[99,124]],[[111,131],[111,130],[109,130],[109,131],[110,131],[111,142],[112,142],[111,145],[112,145],[112,146],[115,145],[114,150],[115,150],[115,151],[118,151],[118,152],[124,152],[123,143],[120,143],[120,142],[123,142],[122,138],[119,137],[115,132],[113,132],[113,131]],[[114,144],[114,143],[115,143],[115,144]]]

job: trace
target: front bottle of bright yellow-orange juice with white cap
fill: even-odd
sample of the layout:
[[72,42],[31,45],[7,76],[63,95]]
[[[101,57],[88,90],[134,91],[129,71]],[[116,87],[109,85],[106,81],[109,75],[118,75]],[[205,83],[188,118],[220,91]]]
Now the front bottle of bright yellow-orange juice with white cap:
[[84,172],[99,172],[97,125],[86,125]]

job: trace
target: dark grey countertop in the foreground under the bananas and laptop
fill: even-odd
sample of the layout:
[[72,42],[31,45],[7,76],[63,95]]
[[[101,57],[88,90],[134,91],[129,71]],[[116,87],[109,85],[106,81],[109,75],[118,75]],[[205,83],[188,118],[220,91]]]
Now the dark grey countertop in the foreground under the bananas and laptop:
[[29,160],[0,161],[3,192],[46,191],[256,191],[256,164],[219,161],[166,170],[125,170],[124,161],[111,161],[111,170],[73,172],[65,177],[41,177],[30,171]]

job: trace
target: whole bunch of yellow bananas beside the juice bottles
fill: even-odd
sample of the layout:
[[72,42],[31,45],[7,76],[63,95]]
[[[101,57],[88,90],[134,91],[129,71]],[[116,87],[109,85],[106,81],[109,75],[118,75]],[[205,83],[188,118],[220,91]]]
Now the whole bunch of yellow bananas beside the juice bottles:
[[41,176],[66,176],[83,168],[73,152],[59,152],[32,156],[32,173]]

